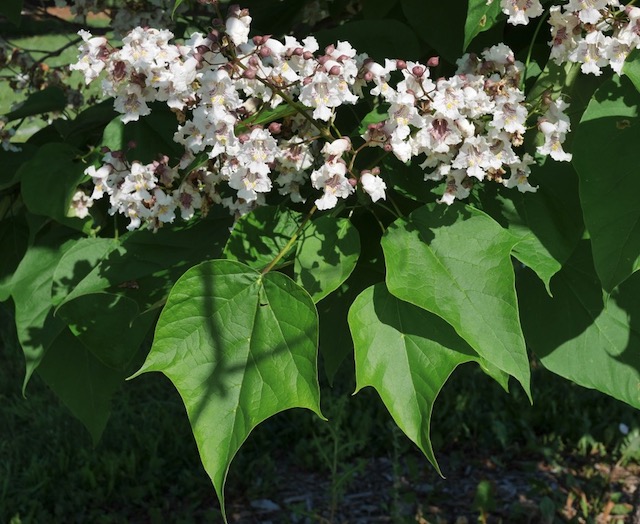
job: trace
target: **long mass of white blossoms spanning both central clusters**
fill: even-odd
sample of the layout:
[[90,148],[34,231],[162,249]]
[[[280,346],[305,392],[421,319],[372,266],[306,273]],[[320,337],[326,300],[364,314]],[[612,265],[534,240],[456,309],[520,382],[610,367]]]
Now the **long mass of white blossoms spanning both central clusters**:
[[[250,24],[247,10],[231,6],[209,34],[195,33],[182,45],[172,44],[167,30],[138,27],[119,49],[80,33],[84,43],[73,68],[87,83],[105,75],[103,92],[125,123],[148,115],[152,102],[168,105],[179,122],[174,141],[184,148],[175,167],[166,159],[129,165],[121,153],[107,152],[101,168],[87,170],[104,188],[94,190],[88,206],[107,194],[110,211],[129,217],[135,229],[216,203],[243,214],[264,204],[274,187],[294,202],[315,190],[318,209],[335,207],[357,189],[376,202],[386,190],[379,168],[355,167],[357,155],[375,146],[403,162],[424,155],[425,179],[446,182],[446,203],[468,196],[474,180],[534,190],[533,159],[514,150],[531,115],[519,88],[521,64],[506,46],[465,55],[456,75],[432,81],[429,68],[437,60],[382,65],[348,42],[320,50],[313,37],[250,39]],[[388,118],[362,137],[341,136],[336,110],[367,93],[388,107]],[[538,152],[557,160],[568,158],[563,109],[562,101],[548,100],[538,120],[546,138]],[[354,148],[352,139],[363,144]]]

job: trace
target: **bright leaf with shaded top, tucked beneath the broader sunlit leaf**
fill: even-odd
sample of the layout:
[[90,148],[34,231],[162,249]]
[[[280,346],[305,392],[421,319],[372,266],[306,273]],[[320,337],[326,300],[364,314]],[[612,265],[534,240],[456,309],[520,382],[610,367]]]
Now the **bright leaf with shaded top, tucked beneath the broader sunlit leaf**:
[[356,392],[372,386],[398,427],[440,472],[429,438],[433,404],[453,370],[480,359],[440,317],[391,295],[363,291],[349,311]]

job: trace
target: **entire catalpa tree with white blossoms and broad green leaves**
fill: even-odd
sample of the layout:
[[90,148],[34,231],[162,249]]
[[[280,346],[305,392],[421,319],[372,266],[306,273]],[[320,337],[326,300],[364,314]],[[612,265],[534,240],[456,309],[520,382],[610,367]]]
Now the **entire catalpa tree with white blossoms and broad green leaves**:
[[462,363],[533,399],[535,355],[640,407],[633,2],[152,4],[55,75],[3,48],[28,92],[0,153],[25,388],[97,440],[124,380],[165,374],[223,513],[253,428],[323,417],[318,373],[349,359],[436,468]]

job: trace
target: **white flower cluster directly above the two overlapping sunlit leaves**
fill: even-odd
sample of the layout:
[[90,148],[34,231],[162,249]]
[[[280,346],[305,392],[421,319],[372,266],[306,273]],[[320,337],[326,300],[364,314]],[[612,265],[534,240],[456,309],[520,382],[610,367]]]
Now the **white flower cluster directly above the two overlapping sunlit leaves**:
[[[448,204],[466,198],[474,182],[485,179],[535,191],[528,181],[533,158],[516,153],[530,115],[519,87],[523,65],[508,47],[499,44],[481,57],[464,55],[456,75],[435,81],[425,65],[396,62],[396,67],[404,78],[395,89],[381,84],[389,118],[369,126],[370,145],[392,151],[403,162],[421,157],[425,180],[446,182],[441,201]],[[566,104],[549,99],[545,105],[537,122],[545,143],[538,153],[569,160],[562,149],[569,131]]]

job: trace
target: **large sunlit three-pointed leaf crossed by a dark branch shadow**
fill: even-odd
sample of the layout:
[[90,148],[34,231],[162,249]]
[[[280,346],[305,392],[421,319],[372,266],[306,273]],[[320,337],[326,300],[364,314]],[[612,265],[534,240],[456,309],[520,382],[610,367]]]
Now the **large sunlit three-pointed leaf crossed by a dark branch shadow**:
[[229,465],[253,428],[293,407],[322,416],[317,342],[313,302],[281,273],[212,260],[172,289],[136,376],[161,371],[178,389],[223,513]]

